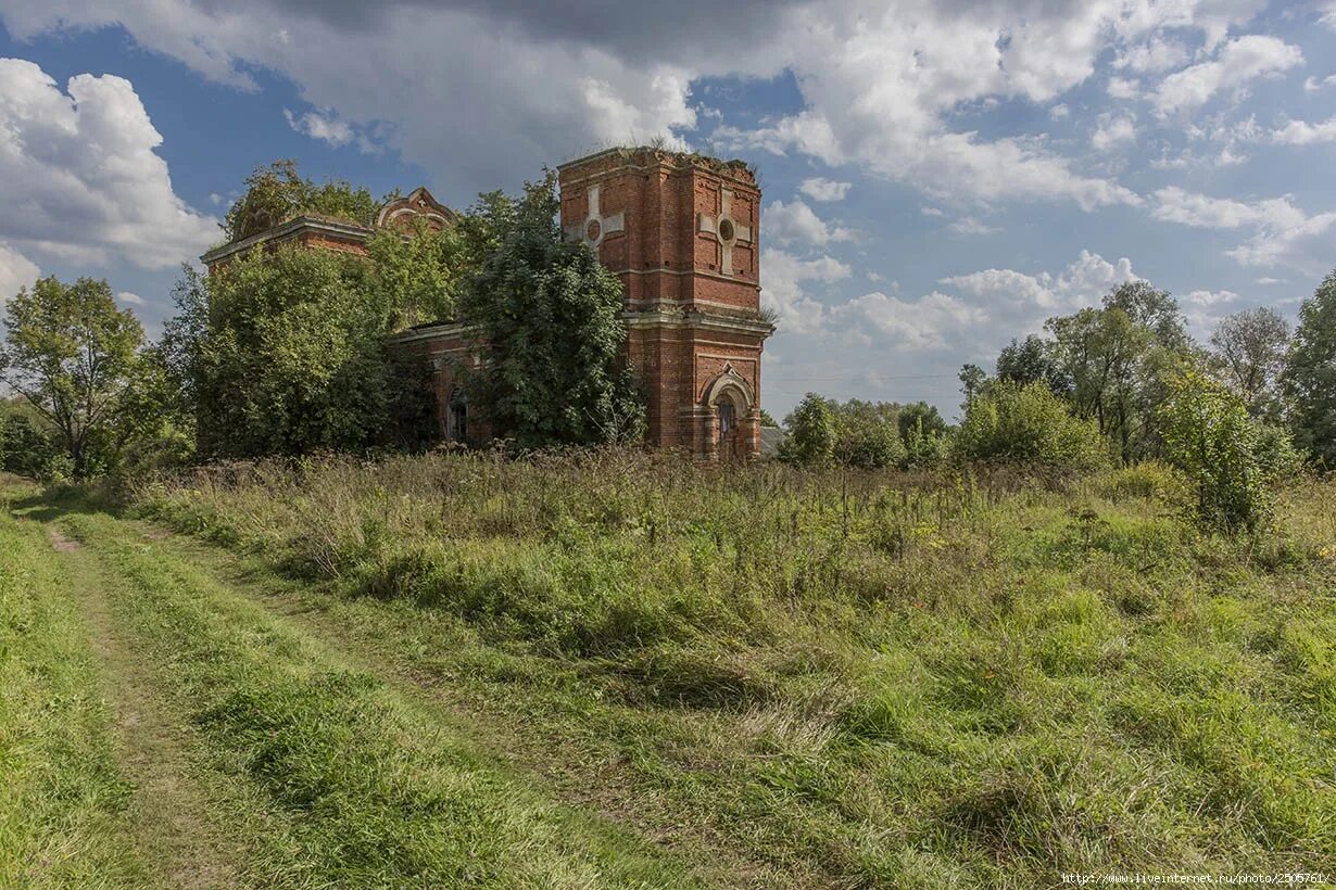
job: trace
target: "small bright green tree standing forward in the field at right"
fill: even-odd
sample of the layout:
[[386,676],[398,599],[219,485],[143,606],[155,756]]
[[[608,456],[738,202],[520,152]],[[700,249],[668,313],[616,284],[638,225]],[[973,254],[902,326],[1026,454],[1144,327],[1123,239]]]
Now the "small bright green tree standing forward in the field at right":
[[1256,531],[1272,515],[1271,486],[1292,454],[1248,416],[1242,399],[1198,371],[1170,376],[1169,398],[1158,410],[1165,458],[1182,470],[1197,492],[1198,520],[1221,531]]

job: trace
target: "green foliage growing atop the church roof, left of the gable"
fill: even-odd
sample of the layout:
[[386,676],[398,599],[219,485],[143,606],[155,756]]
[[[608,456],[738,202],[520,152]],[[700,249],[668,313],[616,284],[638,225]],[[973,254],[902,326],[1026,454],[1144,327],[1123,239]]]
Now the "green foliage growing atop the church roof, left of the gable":
[[297,172],[297,161],[278,160],[246,177],[246,192],[228,208],[223,231],[228,242],[235,242],[302,213],[370,226],[382,203],[366,188],[342,180],[313,183]]

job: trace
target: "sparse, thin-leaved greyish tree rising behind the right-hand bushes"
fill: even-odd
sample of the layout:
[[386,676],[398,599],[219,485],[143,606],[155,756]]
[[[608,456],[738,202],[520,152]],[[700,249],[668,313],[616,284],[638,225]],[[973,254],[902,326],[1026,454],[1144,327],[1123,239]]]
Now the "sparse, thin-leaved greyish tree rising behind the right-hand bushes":
[[1289,350],[1289,322],[1276,310],[1226,315],[1210,335],[1210,364],[1255,418],[1280,416],[1279,378]]

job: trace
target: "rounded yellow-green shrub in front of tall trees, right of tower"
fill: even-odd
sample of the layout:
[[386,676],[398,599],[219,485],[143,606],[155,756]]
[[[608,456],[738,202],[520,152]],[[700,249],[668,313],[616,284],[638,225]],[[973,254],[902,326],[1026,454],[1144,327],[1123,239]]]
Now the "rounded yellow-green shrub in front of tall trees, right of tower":
[[1109,450],[1090,420],[1073,418],[1042,383],[998,380],[970,400],[955,438],[969,460],[1013,460],[1059,470],[1096,470]]

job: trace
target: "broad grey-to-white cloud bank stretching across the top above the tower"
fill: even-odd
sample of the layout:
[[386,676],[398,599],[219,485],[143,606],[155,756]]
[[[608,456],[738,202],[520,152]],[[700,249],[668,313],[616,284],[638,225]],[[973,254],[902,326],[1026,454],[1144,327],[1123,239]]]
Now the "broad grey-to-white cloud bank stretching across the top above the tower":
[[294,115],[303,132],[338,140],[343,124],[383,133],[407,160],[438,171],[445,191],[513,185],[541,163],[660,133],[681,145],[704,116],[691,101],[693,81],[792,72],[802,111],[756,129],[719,127],[713,141],[858,163],[962,200],[1088,209],[1138,199],[1043,135],[990,140],[953,129],[953,113],[1009,99],[1049,104],[1089,79],[1109,47],[1122,51],[1125,71],[1149,71],[1173,55],[1154,43],[1162,29],[1176,39],[1197,31],[1214,47],[1264,5],[737,0],[733,24],[719,28],[717,4],[683,0],[600,8],[591,28],[561,4],[390,0],[373,12],[235,0],[167,12],[162,3],[13,0],[0,16],[19,40],[119,25],[140,45],[240,88],[257,88],[257,68],[274,71],[326,109],[307,112],[318,120]]

